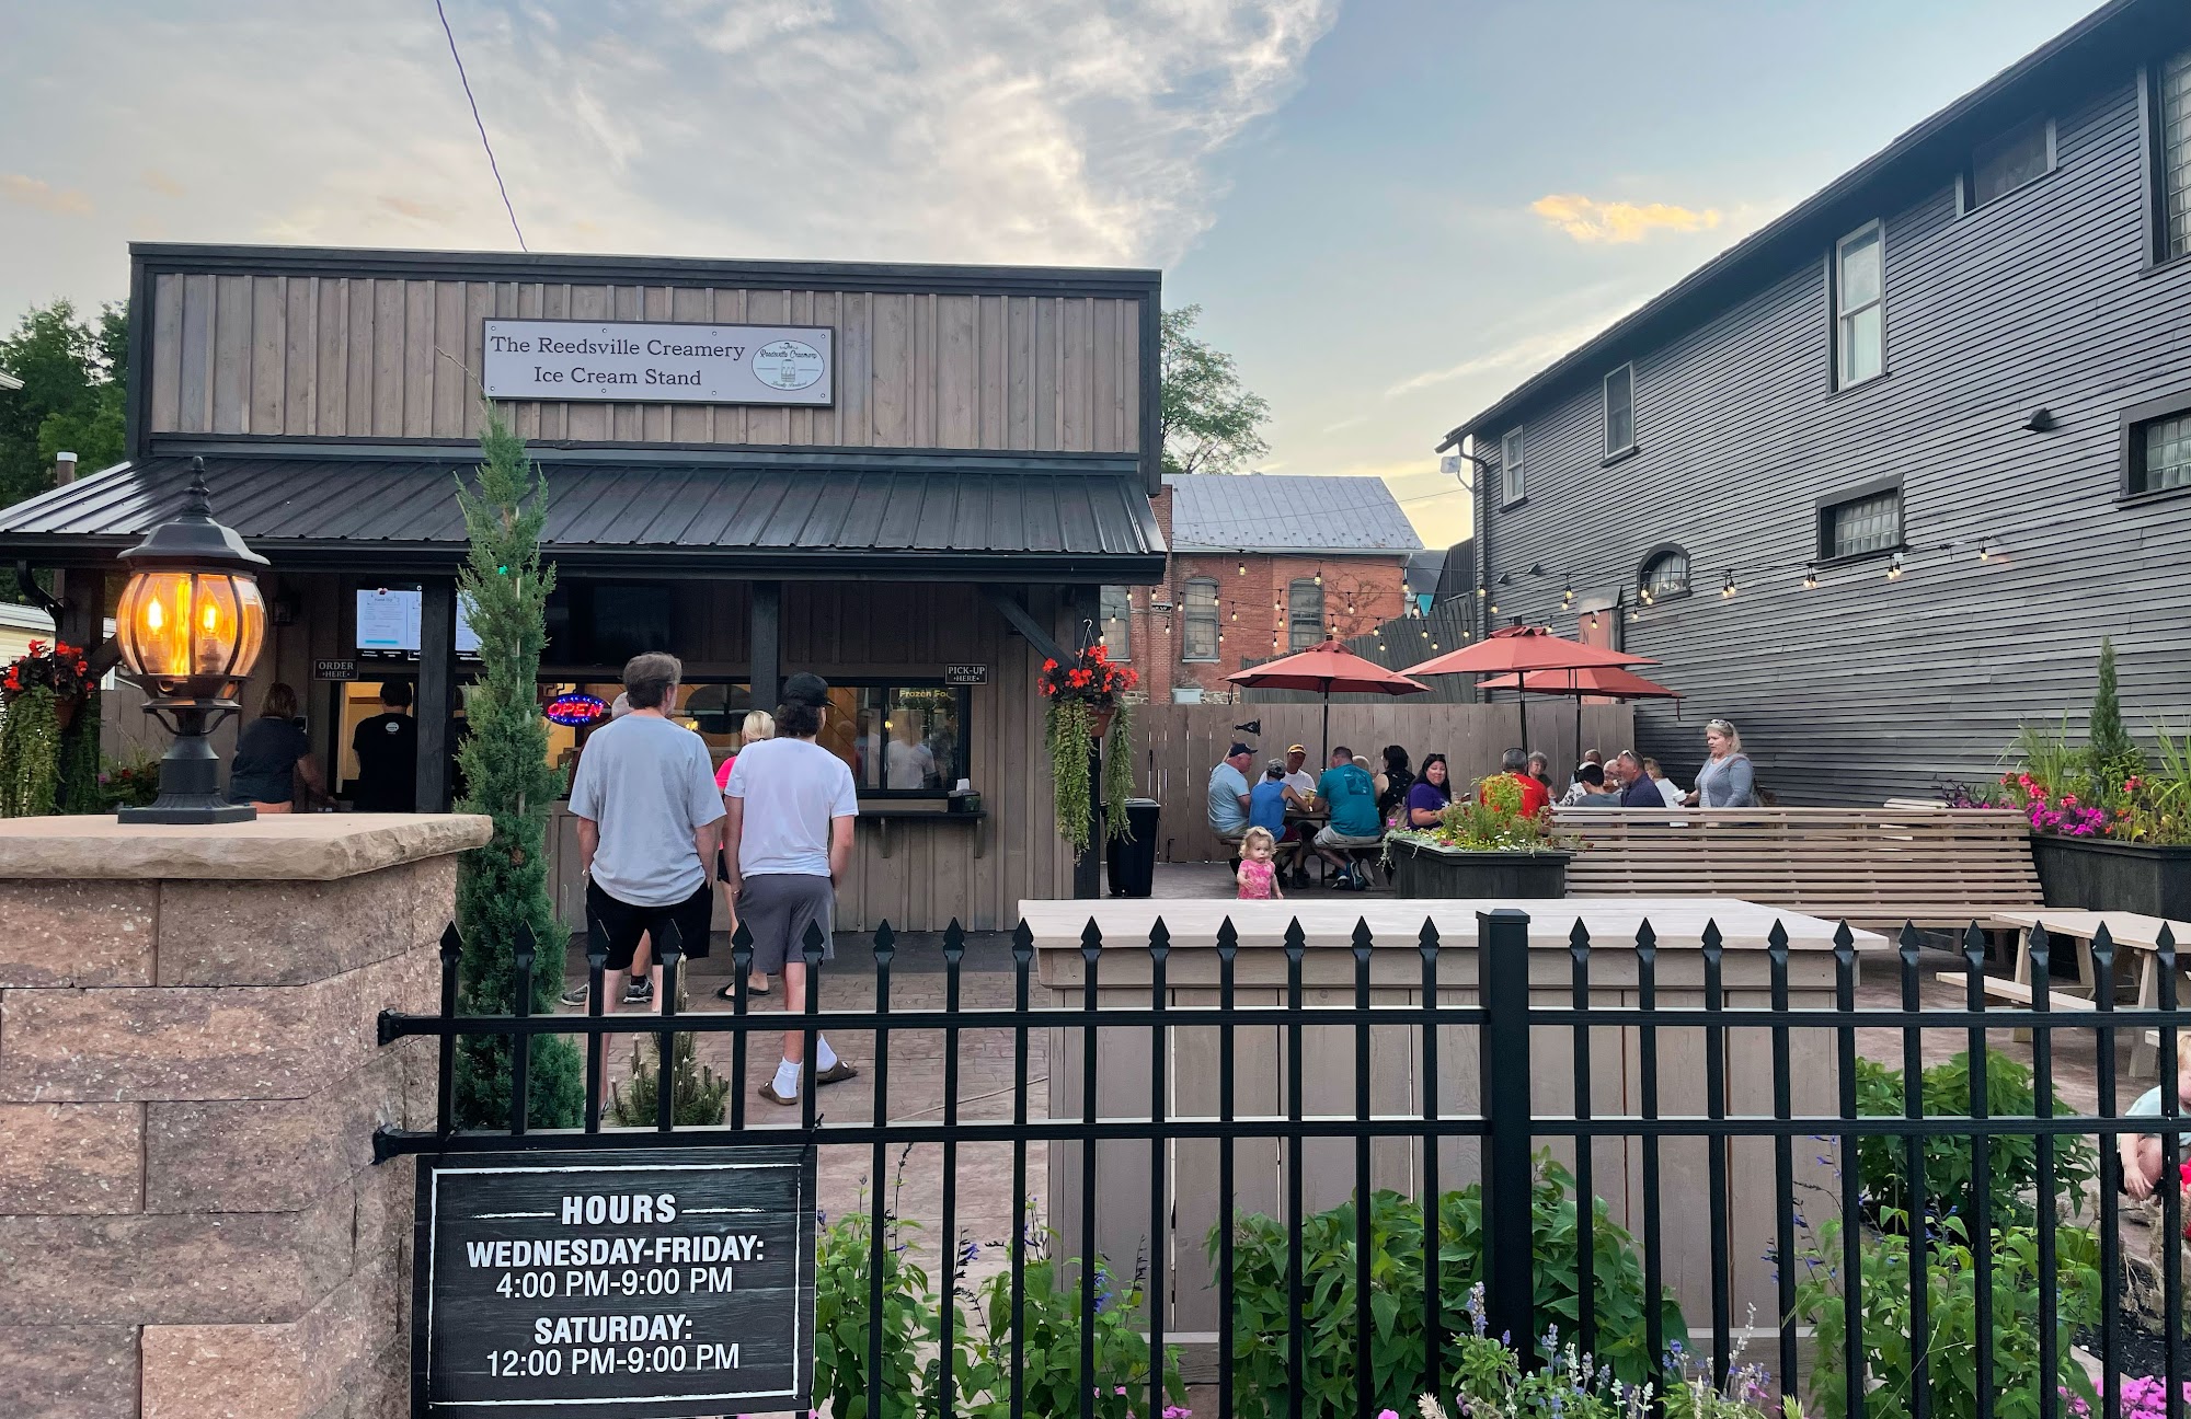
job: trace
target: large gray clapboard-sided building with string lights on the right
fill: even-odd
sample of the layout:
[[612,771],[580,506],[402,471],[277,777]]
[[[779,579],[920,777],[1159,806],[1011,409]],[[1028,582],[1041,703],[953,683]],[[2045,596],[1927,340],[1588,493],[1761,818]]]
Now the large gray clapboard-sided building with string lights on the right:
[[[1450,431],[1477,600],[1656,657],[1781,801],[2191,727],[2191,4],[2114,0]],[[1490,611],[1496,607],[1496,611]]]

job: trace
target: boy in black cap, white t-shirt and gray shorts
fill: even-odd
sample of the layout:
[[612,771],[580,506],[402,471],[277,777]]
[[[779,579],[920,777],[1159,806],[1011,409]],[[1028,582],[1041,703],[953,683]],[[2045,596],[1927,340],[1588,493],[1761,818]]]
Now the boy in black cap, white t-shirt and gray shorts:
[[[817,745],[828,718],[828,681],[793,674],[776,707],[776,738],[747,745],[730,766],[723,788],[725,878],[738,920],[754,937],[754,970],[784,977],[784,1012],[806,1012],[806,933],[822,931],[822,959],[833,955],[830,918],[837,880],[852,861],[852,819],[859,793],[841,758]],[[806,1034],[784,1031],[784,1058],[760,1086],[771,1104],[800,1101]],[[815,1084],[850,1080],[859,1071],[815,1036]]]

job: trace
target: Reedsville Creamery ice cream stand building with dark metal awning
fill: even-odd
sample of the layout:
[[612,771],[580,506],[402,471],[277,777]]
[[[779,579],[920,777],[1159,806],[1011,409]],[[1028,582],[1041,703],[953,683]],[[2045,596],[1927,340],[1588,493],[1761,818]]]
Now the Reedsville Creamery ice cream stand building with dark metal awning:
[[[673,650],[721,760],[784,674],[826,674],[861,791],[839,926],[1010,926],[1076,887],[1034,672],[1102,585],[1163,574],[1157,309],[1157,272],[136,245],[129,458],[0,510],[0,556],[61,569],[90,639],[204,458],[272,561],[245,712],[294,685],[346,791],[379,681],[414,683],[416,799],[445,808],[484,392],[548,484],[543,703]],[[986,812],[949,810],[957,780]]]

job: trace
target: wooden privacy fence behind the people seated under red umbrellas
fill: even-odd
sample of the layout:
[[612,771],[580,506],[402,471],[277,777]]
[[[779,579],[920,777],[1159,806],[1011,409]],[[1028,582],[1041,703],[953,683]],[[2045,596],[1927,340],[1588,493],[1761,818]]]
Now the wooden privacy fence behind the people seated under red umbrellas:
[[[1444,753],[1455,784],[1472,784],[1496,773],[1499,755],[1521,734],[1521,710],[1529,714],[1529,749],[1551,755],[1562,780],[1575,758],[1575,703],[1532,696],[1496,705],[1429,705],[1380,701],[1332,705],[1332,745],[1383,764],[1385,745],[1404,745],[1409,762]],[[1262,734],[1236,725],[1262,723]],[[1227,850],[1209,832],[1209,771],[1225,749],[1242,740],[1255,749],[1253,775],[1262,762],[1282,758],[1286,745],[1308,747],[1310,773],[1328,758],[1323,705],[1137,705],[1133,710],[1133,791],[1163,804],[1157,821],[1157,856],[1166,863],[1216,863]],[[1634,742],[1634,712],[1628,705],[1584,705],[1582,747],[1613,755]],[[1251,777],[1253,777],[1251,775]]]

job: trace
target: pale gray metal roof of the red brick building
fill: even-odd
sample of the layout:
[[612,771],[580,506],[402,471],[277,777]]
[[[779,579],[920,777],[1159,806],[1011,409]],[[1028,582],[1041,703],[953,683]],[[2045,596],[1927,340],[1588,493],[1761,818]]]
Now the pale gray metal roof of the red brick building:
[[1177,552],[1420,552],[1422,539],[1380,477],[1174,473]]

